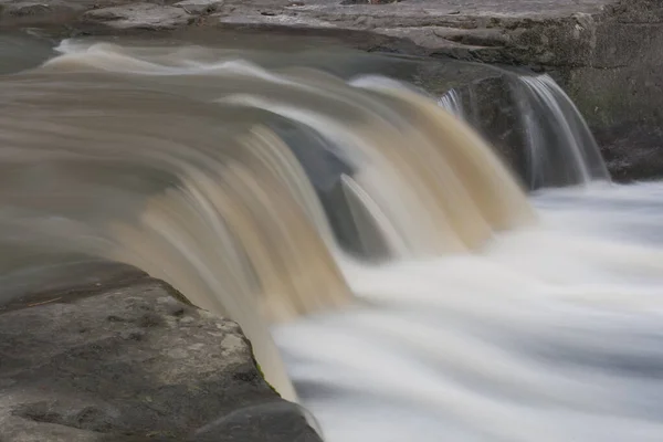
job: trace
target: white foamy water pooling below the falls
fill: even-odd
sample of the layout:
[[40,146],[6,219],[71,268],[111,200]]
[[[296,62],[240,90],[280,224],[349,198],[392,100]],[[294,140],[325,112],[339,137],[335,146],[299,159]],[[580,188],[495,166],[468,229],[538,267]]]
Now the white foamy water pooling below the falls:
[[346,262],[370,307],[276,330],[326,440],[663,440],[661,197],[547,191],[482,253]]

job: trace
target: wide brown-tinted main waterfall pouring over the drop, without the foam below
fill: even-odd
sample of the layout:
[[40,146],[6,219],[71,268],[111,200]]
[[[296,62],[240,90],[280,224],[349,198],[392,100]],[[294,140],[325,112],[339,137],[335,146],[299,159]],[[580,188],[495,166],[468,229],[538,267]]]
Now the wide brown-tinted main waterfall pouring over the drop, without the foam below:
[[[0,86],[9,97],[0,159],[17,170],[3,178],[2,204],[35,220],[25,224],[35,238],[136,265],[238,320],[291,399],[266,324],[347,307],[352,296],[334,259],[343,252],[326,196],[297,159],[302,146],[270,129],[275,116],[311,128],[347,165],[332,178],[346,197],[335,210],[347,210],[376,255],[465,253],[534,220],[488,145],[396,82],[201,65],[105,43],[65,50]],[[39,167],[49,169],[44,187],[23,178]],[[49,187],[56,201],[42,197]],[[61,229],[39,218],[52,211]],[[87,233],[73,240],[81,225]]]

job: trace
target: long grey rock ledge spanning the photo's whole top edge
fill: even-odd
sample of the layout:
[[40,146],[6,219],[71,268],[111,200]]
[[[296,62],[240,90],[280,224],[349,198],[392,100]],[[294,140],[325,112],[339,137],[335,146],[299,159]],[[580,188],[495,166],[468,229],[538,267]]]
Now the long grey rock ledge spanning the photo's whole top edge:
[[0,0],[0,23],[56,21],[63,9],[70,22],[118,30],[351,31],[383,36],[381,49],[396,52],[406,41],[421,55],[567,70],[625,67],[650,55],[663,22],[657,0]]

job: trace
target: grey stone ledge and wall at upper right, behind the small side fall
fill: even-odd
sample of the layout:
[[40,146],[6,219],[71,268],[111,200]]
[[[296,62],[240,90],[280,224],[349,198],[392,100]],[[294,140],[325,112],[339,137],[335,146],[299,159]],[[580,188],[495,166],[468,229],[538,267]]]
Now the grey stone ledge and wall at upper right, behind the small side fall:
[[[215,17],[225,25],[370,32],[386,38],[368,44],[380,51],[548,72],[601,135],[604,155],[618,156],[610,162],[621,165],[611,168],[618,179],[652,175],[635,166],[646,160],[631,161],[630,150],[611,147],[617,140],[606,134],[619,133],[620,146],[629,143],[629,134],[649,134],[633,135],[639,146],[649,140],[638,158],[660,164],[663,138],[655,129],[663,125],[663,2],[657,0],[229,0]],[[421,83],[431,90],[428,83],[436,82]],[[502,144],[502,134],[490,135]],[[514,157],[513,151],[505,155]]]

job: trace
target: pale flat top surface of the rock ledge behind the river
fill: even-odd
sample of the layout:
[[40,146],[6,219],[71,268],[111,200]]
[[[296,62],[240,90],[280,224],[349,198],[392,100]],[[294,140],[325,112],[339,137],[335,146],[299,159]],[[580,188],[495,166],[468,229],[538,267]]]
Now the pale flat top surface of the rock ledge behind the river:
[[[169,9],[173,3],[176,1],[0,0],[0,21],[44,23],[57,21],[66,13],[72,17],[86,13],[88,20],[105,22],[115,14],[125,21],[123,28],[143,28],[145,22],[150,23],[144,17],[148,10],[162,18],[155,18],[151,23],[176,15]],[[399,29],[412,31],[432,27],[471,29],[501,19],[549,20],[578,13],[596,14],[618,3],[618,0],[185,0],[175,6],[183,6],[192,15],[217,12],[218,21],[212,20],[211,24],[281,24],[394,33]],[[108,11],[108,8],[117,9]],[[105,12],[94,12],[96,10]],[[175,18],[169,20],[172,25],[186,24]],[[440,39],[439,44],[443,43]]]

